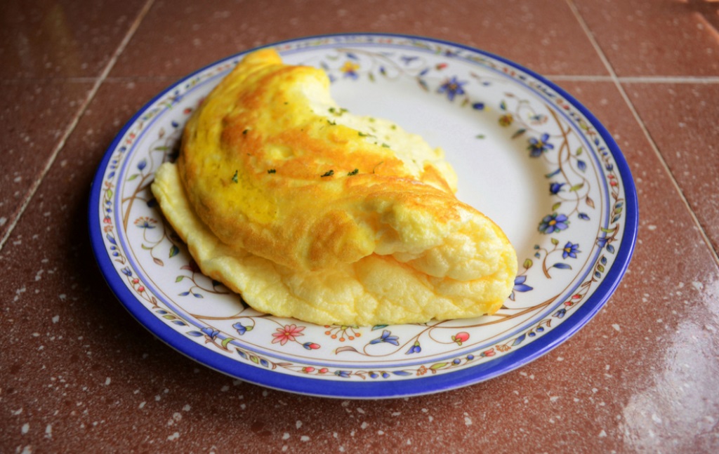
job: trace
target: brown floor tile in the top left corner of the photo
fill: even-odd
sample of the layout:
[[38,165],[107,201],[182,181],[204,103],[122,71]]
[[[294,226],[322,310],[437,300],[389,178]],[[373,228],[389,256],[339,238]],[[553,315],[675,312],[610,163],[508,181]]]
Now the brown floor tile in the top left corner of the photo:
[[145,0],[0,3],[0,78],[95,77]]

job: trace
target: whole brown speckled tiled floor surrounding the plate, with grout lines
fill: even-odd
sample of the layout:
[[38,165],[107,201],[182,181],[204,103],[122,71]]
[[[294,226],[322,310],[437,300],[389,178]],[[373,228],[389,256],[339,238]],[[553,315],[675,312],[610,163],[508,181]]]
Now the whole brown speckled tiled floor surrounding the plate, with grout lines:
[[[719,2],[5,1],[0,5],[0,446],[8,452],[717,452]],[[198,366],[116,302],[88,188],[174,80],[277,40],[419,34],[555,80],[636,182],[636,252],[608,305],[518,371],[411,399],[339,401]]]

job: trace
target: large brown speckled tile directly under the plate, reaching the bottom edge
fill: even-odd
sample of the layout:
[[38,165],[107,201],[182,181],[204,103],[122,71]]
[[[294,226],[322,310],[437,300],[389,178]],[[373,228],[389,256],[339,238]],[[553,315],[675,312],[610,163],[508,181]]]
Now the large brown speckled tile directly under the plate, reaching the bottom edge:
[[639,242],[608,305],[518,371],[383,401],[302,397],[223,376],[157,341],[115,300],[87,238],[88,184],[122,123],[163,85],[101,88],[58,157],[75,163],[75,177],[53,166],[0,252],[9,289],[0,338],[5,445],[307,453],[717,447],[719,403],[705,397],[719,393],[719,270],[641,129],[623,120],[628,109],[613,84],[562,83],[606,122],[637,177]]

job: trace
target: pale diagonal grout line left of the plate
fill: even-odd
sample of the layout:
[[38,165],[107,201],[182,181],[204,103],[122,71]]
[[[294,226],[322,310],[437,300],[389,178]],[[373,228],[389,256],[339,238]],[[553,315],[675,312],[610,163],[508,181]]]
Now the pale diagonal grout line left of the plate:
[[127,30],[127,33],[125,34],[124,38],[118,45],[117,49],[113,53],[112,57],[110,58],[109,62],[107,62],[107,65],[105,65],[104,70],[99,75],[99,77],[95,80],[95,83],[93,87],[90,89],[90,92],[88,93],[88,96],[86,96],[85,101],[83,101],[82,105],[78,109],[77,114],[75,114],[75,117],[72,121],[70,121],[70,124],[67,128],[65,128],[65,133],[62,137],[60,137],[60,142],[58,142],[57,145],[55,145],[55,148],[52,149],[52,153],[50,154],[50,157],[47,159],[47,162],[45,163],[45,167],[42,168],[42,171],[40,172],[40,176],[35,179],[35,182],[32,183],[32,186],[30,187],[27,195],[25,196],[24,200],[22,201],[22,204],[19,206],[19,208],[14,213],[14,218],[10,222],[10,225],[8,226],[7,230],[5,231],[5,235],[2,239],[0,239],[0,251],[4,248],[7,240],[10,238],[10,235],[12,235],[12,232],[15,230],[15,226],[17,226],[18,221],[20,218],[22,218],[22,215],[24,214],[25,210],[27,210],[27,207],[29,206],[32,199],[35,197],[35,193],[37,193],[37,189],[42,184],[42,181],[45,180],[45,176],[48,172],[50,172],[50,167],[55,163],[55,159],[58,157],[58,154],[60,154],[60,150],[62,150],[65,147],[65,143],[68,141],[68,138],[70,137],[70,134],[75,131],[75,128],[78,126],[78,123],[80,123],[80,119],[82,118],[83,114],[87,110],[88,106],[90,105],[93,98],[95,98],[97,92],[100,89],[100,85],[105,81],[107,78],[107,75],[110,73],[112,68],[114,67],[115,63],[117,62],[118,57],[122,52],[124,51],[125,47],[127,46],[127,43],[132,39],[132,36],[137,31],[137,28],[139,27],[140,22],[142,22],[142,19],[145,19],[145,15],[147,14],[147,11],[150,10],[150,6],[152,6],[152,3],[155,0],[147,0],[145,2],[145,5],[142,7],[142,9],[137,14],[137,17],[135,17],[134,22],[132,22],[132,25]]

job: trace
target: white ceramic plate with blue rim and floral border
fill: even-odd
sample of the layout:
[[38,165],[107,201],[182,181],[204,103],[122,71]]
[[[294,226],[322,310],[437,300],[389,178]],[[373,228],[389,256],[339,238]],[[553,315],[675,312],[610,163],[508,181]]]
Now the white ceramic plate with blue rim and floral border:
[[239,54],[150,101],[120,131],[93,181],[89,222],[101,271],[157,337],[274,389],[403,397],[523,366],[608,300],[636,240],[636,191],[608,132],[557,85],[501,57],[421,37],[342,34],[273,47],[285,62],[323,68],[340,106],[391,119],[445,150],[459,199],[490,216],[516,247],[514,291],[488,317],[320,326],[256,312],[203,276],[149,187],[157,167],[178,154],[188,117]]

